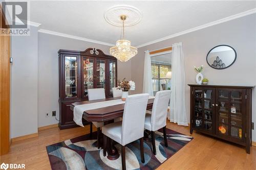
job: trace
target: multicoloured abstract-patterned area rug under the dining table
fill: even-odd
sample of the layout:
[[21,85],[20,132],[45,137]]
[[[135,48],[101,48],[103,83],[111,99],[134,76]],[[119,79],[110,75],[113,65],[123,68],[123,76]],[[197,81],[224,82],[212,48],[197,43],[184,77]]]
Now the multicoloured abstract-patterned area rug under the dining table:
[[[139,140],[127,144],[126,169],[156,169],[193,139],[170,129],[166,131],[167,148],[164,147],[162,130],[156,132],[156,155],[152,152],[151,140],[144,140],[145,163],[141,162]],[[52,169],[121,169],[121,156],[116,160],[104,157],[103,149],[96,147],[96,135],[94,132],[92,138],[87,134],[46,147]],[[115,147],[121,153],[121,145],[117,143]]]

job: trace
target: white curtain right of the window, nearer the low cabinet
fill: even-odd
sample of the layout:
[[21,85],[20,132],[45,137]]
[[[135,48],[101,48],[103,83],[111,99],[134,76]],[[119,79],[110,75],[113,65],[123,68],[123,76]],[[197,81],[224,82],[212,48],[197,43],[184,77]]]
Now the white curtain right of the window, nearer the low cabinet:
[[188,126],[185,106],[185,63],[182,42],[173,44],[170,122]]

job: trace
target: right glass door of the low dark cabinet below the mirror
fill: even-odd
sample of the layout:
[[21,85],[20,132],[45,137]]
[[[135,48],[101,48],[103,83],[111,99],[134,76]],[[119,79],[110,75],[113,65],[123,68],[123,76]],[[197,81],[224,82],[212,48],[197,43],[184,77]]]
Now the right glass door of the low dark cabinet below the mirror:
[[245,90],[217,89],[216,134],[237,139],[244,138],[245,130]]

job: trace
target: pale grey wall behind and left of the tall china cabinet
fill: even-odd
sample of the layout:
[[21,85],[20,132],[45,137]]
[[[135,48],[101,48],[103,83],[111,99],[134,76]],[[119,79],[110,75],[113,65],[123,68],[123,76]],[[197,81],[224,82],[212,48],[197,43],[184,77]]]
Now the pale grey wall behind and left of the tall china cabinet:
[[[11,138],[36,133],[38,127],[58,123],[58,50],[84,51],[95,47],[109,54],[110,46],[38,33],[13,36],[11,41]],[[131,79],[131,61],[118,61],[118,79]],[[45,113],[50,112],[49,117]]]

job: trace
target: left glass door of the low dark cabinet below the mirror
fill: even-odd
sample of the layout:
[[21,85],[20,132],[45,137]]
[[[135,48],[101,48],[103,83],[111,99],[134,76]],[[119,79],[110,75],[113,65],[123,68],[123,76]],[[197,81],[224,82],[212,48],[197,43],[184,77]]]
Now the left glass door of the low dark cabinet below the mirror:
[[197,88],[194,90],[194,127],[209,133],[215,132],[214,96],[214,88]]

